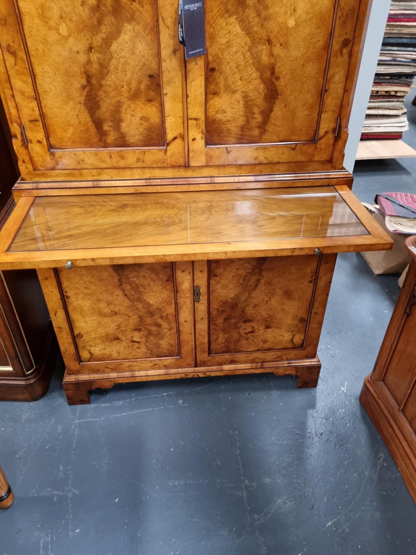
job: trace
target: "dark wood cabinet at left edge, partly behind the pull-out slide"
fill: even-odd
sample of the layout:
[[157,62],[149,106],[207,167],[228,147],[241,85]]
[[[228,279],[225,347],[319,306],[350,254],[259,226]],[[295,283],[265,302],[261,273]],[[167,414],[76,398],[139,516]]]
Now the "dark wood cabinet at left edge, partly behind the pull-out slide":
[[[0,104],[0,110],[2,106]],[[17,179],[0,123],[0,229]],[[56,341],[35,270],[0,271],[0,401],[34,401],[48,390]]]

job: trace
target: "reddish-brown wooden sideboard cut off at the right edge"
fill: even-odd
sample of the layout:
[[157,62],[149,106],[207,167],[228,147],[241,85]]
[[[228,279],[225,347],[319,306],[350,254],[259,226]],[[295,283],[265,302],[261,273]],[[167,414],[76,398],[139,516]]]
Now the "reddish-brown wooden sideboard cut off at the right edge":
[[360,400],[416,503],[416,236],[411,263]]

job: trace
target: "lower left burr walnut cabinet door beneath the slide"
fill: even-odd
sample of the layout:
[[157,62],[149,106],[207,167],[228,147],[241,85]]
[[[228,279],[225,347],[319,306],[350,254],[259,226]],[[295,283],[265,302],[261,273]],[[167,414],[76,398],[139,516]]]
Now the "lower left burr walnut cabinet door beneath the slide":
[[68,374],[195,366],[191,263],[38,275]]

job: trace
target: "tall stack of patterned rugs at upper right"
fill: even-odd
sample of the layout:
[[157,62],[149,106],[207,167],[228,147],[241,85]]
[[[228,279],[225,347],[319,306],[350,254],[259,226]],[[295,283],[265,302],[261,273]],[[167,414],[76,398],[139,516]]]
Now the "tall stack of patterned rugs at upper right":
[[362,139],[401,139],[409,129],[404,97],[416,75],[416,2],[390,6]]

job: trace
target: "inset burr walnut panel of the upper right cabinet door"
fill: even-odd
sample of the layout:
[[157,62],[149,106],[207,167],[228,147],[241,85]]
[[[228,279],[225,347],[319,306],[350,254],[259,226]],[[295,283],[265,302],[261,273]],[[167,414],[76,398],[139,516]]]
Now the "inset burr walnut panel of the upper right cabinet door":
[[207,145],[315,139],[335,6],[206,3]]

